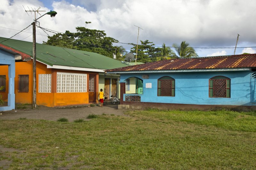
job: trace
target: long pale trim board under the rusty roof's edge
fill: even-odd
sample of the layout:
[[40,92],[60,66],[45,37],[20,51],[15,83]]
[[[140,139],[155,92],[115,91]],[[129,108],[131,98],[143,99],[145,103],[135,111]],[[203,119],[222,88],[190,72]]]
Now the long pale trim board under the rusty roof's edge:
[[232,69],[184,69],[184,70],[141,70],[141,71],[107,71],[111,73],[164,73],[164,72],[205,72],[205,71],[250,71],[250,68],[232,68]]

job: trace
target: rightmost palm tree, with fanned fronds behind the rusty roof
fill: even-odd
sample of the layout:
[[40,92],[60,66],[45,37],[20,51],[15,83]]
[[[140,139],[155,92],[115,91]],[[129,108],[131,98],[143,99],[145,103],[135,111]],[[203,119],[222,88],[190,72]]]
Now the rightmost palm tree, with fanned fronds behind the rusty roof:
[[190,47],[186,41],[182,41],[180,45],[174,43],[172,44],[175,51],[178,53],[179,57],[184,58],[191,58],[191,57],[198,57],[194,48]]

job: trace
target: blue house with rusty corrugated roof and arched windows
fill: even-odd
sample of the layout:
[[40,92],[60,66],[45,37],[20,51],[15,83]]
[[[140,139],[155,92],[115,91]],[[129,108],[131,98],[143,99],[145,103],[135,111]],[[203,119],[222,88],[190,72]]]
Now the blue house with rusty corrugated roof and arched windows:
[[[256,54],[177,58],[106,71],[120,74],[119,108],[256,108]],[[139,83],[130,85],[131,79]],[[135,90],[127,93],[131,87]]]

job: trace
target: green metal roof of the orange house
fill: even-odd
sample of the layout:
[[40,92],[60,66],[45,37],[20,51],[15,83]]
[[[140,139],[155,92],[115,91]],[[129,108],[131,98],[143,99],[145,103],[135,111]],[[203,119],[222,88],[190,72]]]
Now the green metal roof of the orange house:
[[[7,38],[0,37],[0,44],[30,55],[33,58],[32,42],[7,40]],[[127,66],[120,61],[97,53],[38,43],[36,43],[36,60],[50,66],[60,65],[103,70]]]

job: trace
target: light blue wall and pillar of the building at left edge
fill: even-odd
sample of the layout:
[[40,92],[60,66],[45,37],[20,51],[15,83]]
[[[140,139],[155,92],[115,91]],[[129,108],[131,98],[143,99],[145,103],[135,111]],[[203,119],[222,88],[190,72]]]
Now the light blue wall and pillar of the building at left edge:
[[14,55],[0,49],[0,64],[8,65],[8,77],[9,77],[8,106],[0,107],[0,111],[12,110],[12,109],[15,109],[15,94],[14,94],[15,58],[14,58]]

